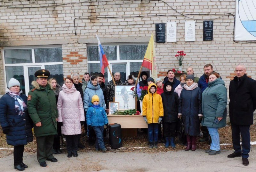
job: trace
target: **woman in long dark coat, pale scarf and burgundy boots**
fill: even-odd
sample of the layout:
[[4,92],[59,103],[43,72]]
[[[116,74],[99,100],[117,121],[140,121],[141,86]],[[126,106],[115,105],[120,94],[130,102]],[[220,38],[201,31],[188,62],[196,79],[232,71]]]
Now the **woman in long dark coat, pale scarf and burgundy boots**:
[[180,93],[179,117],[182,116],[187,137],[186,151],[196,150],[196,137],[200,133],[200,120],[203,118],[201,89],[194,80],[193,75],[188,75]]

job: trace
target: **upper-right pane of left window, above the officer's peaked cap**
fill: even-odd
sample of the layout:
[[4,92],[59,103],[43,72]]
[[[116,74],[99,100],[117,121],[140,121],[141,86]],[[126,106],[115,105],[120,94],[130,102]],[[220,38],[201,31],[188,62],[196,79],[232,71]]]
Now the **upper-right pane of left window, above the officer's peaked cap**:
[[35,62],[62,62],[61,48],[35,48]]

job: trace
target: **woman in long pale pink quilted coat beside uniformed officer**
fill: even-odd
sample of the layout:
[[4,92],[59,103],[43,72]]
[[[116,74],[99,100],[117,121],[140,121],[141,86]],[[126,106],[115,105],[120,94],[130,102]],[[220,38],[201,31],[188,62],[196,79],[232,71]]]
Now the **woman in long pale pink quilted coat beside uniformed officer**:
[[58,98],[58,112],[61,133],[66,136],[68,158],[77,157],[77,144],[81,131],[81,125],[84,124],[84,106],[79,91],[73,84],[73,79],[67,77],[64,80],[62,91]]

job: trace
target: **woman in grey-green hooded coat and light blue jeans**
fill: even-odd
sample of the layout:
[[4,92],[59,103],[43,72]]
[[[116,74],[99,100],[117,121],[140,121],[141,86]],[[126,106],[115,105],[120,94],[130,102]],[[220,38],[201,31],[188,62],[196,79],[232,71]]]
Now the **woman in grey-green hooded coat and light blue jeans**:
[[220,136],[218,128],[226,126],[227,88],[220,75],[212,72],[209,75],[208,87],[202,93],[202,126],[206,126],[212,138],[209,155],[220,154]]

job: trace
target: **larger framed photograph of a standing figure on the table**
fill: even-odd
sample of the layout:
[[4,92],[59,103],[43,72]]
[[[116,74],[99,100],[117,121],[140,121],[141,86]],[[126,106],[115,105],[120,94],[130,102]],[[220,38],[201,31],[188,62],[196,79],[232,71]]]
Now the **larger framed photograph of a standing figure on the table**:
[[119,110],[136,109],[136,100],[131,88],[134,85],[116,85],[115,102],[119,102]]

